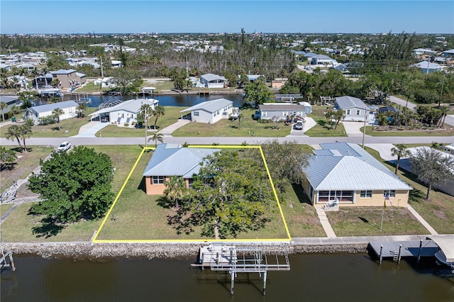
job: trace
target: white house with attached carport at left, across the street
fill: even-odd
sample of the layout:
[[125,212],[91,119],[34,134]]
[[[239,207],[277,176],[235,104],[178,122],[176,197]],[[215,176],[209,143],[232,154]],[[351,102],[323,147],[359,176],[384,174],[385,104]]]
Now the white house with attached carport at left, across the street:
[[[125,123],[132,125],[133,123],[137,123],[137,115],[141,112],[140,108],[142,105],[150,105],[151,111],[154,111],[158,103],[159,101],[155,99],[132,99],[119,102],[118,104],[112,104],[113,106],[104,106],[104,108],[100,108],[89,116],[91,119],[99,118],[99,121],[111,122],[118,125],[124,125]],[[151,112],[148,115],[151,116]]]

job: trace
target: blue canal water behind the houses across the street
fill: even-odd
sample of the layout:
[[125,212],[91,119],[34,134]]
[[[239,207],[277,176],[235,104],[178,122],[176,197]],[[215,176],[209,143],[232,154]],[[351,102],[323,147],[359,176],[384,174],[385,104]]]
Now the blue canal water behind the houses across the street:
[[[88,97],[92,100],[92,104],[89,104],[89,107],[99,107],[102,103],[109,100],[120,99],[123,101],[128,101],[130,99],[143,98],[143,96],[98,96],[98,95],[83,95],[79,94],[80,98]],[[243,96],[240,94],[226,94],[226,95],[210,95],[210,96],[199,96],[198,94],[172,94],[166,96],[146,96],[147,98],[153,98],[159,100],[161,106],[194,106],[203,101],[211,101],[214,99],[228,99],[233,101],[233,106],[240,107],[243,105]],[[77,100],[78,96],[75,94],[65,94],[63,96],[63,101]],[[45,98],[38,99],[35,101],[35,105],[44,105],[46,104]]]

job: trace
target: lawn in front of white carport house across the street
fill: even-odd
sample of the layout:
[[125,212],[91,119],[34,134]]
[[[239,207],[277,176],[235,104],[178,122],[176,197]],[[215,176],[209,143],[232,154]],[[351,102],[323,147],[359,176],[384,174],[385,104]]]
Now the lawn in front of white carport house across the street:
[[[181,113],[183,109],[187,107],[177,107],[177,106],[164,106],[165,116],[157,118],[156,128],[157,130],[162,130],[163,128],[176,123],[179,118],[181,118]],[[156,118],[150,118],[150,126],[153,127],[155,124]],[[136,128],[124,128],[118,127],[117,125],[108,125],[106,128],[103,128],[99,131],[102,138],[140,138],[145,135],[145,129],[136,129]],[[148,131],[147,135],[153,135],[152,131]]]

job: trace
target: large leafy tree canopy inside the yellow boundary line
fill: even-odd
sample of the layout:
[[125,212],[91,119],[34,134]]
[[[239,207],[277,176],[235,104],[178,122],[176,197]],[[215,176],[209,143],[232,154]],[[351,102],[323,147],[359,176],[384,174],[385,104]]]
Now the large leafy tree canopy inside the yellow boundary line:
[[275,199],[260,155],[250,151],[216,152],[206,158],[190,194],[170,218],[179,233],[201,226],[202,236],[218,239],[265,225]]

